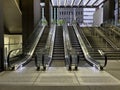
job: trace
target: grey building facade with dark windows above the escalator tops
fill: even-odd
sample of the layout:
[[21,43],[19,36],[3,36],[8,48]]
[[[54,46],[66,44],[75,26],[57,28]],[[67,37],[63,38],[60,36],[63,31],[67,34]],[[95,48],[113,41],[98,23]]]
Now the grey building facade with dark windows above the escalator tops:
[[65,20],[69,25],[75,20],[83,22],[83,8],[57,8],[57,20]]

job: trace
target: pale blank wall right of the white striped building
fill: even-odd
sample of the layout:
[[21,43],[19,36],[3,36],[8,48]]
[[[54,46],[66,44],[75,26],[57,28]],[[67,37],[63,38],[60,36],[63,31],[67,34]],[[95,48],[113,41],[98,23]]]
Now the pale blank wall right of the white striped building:
[[103,8],[96,10],[93,15],[93,25],[100,26],[101,23],[103,23]]

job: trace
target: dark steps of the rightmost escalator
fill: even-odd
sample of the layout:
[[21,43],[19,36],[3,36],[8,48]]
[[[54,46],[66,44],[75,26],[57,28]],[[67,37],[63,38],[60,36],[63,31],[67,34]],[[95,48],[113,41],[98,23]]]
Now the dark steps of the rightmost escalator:
[[68,27],[69,30],[69,36],[70,36],[70,41],[71,41],[71,45],[72,47],[75,49],[75,51],[77,52],[77,54],[79,55],[79,60],[81,63],[79,63],[79,66],[88,66],[88,64],[86,64],[86,59],[84,57],[82,48],[79,44],[79,41],[76,37],[76,34],[74,32],[74,28],[72,26]]

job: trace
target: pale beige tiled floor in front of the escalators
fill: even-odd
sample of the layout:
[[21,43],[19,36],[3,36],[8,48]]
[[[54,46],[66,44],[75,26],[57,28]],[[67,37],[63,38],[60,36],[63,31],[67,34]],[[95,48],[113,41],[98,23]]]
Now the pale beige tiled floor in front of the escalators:
[[[6,87],[7,86],[7,87]],[[67,71],[66,67],[50,67],[47,71],[36,71],[35,67],[23,67],[17,71],[0,73],[0,90],[11,87],[32,87],[31,90],[120,90],[120,62],[110,61],[104,71],[93,67],[79,67],[78,71]],[[45,87],[44,87],[45,86]],[[48,88],[47,88],[48,87]],[[70,88],[71,87],[71,88]],[[6,89],[5,89],[6,88]],[[109,88],[109,89],[108,89]],[[67,89],[68,90],[68,89]]]

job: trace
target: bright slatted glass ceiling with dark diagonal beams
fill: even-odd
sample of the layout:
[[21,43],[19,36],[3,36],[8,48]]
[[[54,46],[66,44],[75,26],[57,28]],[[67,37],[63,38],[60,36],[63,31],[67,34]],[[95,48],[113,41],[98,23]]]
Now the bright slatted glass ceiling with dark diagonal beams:
[[51,0],[53,7],[99,7],[107,0]]

